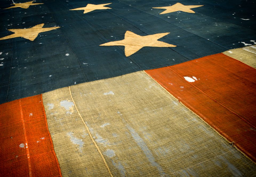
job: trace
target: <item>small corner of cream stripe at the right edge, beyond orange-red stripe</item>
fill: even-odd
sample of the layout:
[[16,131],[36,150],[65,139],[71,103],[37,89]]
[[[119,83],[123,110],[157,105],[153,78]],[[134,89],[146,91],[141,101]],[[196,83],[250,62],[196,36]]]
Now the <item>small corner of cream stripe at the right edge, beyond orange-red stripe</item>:
[[256,45],[249,45],[239,49],[232,49],[223,54],[235,58],[246,65],[256,68]]

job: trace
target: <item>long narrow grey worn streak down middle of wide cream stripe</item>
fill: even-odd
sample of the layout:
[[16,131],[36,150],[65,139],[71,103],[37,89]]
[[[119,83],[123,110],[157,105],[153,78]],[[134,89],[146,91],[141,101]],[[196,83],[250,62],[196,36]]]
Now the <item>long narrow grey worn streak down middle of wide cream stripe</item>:
[[128,124],[126,125],[126,127],[129,129],[131,136],[133,137],[135,142],[138,144],[138,146],[141,148],[141,150],[144,152],[144,154],[146,155],[151,165],[157,168],[157,170],[159,171],[159,175],[169,176],[163,171],[163,168],[157,162],[155,162],[155,158],[152,152],[147,147],[147,144],[143,141],[143,139],[139,136],[139,134],[133,128],[131,128]]

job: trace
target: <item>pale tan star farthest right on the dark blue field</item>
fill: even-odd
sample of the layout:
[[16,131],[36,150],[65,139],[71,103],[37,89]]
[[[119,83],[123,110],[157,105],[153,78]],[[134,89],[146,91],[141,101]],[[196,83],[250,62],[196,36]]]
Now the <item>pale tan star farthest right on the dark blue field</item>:
[[176,11],[183,11],[183,12],[188,12],[188,13],[195,13],[192,8],[196,7],[201,7],[203,5],[196,5],[196,6],[185,6],[181,3],[176,3],[172,6],[166,6],[166,7],[152,7],[154,9],[166,9],[165,11],[161,12],[160,14],[167,14],[171,12],[176,12]]

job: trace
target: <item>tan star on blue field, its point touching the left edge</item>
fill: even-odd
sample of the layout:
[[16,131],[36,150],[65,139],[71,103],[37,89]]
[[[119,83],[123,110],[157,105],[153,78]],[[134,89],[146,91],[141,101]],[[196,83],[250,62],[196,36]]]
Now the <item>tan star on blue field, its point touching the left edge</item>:
[[39,33],[55,30],[59,28],[59,27],[43,28],[43,25],[44,23],[35,25],[32,28],[27,28],[27,29],[9,29],[9,31],[14,32],[14,34],[2,37],[0,38],[0,40],[22,37],[22,38],[29,39],[30,41],[34,41]]

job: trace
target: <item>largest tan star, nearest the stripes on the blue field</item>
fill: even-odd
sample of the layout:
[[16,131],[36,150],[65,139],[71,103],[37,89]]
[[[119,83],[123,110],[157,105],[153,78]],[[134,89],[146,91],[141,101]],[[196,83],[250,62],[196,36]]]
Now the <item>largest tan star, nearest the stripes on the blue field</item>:
[[125,39],[101,44],[100,46],[125,46],[125,56],[129,57],[142,47],[176,47],[175,45],[157,41],[169,33],[158,33],[147,36],[140,36],[131,31],[126,31]]

